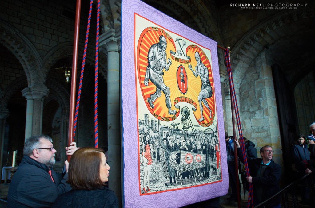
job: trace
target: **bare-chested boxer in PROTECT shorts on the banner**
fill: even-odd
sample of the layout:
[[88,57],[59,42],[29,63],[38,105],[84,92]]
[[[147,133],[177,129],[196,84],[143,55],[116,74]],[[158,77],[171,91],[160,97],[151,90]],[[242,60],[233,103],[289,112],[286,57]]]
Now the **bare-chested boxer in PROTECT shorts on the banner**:
[[197,66],[195,67],[195,71],[192,70],[191,64],[188,65],[188,68],[192,71],[192,73],[195,75],[195,77],[198,77],[198,75],[199,75],[200,79],[201,79],[201,91],[199,92],[199,95],[198,95],[201,118],[198,119],[198,121],[202,122],[204,120],[202,102],[203,102],[204,106],[210,110],[210,117],[212,115],[212,111],[208,105],[208,102],[206,101],[206,98],[210,98],[212,96],[212,87],[211,87],[210,81],[209,81],[209,70],[200,60],[199,52],[195,53],[195,58],[197,61]]

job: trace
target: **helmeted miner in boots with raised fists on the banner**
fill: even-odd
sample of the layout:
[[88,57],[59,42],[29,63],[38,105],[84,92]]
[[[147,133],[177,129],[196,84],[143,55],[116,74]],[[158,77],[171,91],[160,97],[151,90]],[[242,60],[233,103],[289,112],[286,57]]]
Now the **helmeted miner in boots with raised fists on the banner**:
[[175,115],[176,110],[171,109],[172,103],[169,97],[171,94],[171,91],[169,87],[164,84],[164,80],[163,80],[163,74],[164,74],[163,69],[165,68],[165,71],[168,71],[169,66],[172,64],[172,61],[170,58],[166,59],[166,51],[165,51],[166,46],[167,46],[166,38],[161,35],[159,37],[159,42],[156,44],[153,44],[149,49],[149,52],[148,52],[149,65],[146,69],[146,78],[149,78],[151,82],[157,88],[156,88],[155,93],[153,93],[152,95],[150,95],[150,97],[148,97],[147,101],[150,104],[150,107],[154,108],[154,101],[156,101],[156,99],[162,95],[162,91],[163,91],[165,95],[166,107],[169,109],[169,114]]

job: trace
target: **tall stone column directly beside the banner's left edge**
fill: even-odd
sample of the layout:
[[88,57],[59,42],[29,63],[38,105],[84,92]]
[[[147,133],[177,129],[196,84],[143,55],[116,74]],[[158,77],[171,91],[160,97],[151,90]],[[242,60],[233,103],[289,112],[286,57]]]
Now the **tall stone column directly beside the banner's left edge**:
[[112,177],[109,188],[121,202],[121,136],[120,136],[120,89],[119,89],[119,46],[115,30],[100,37],[100,46],[107,52],[107,139],[108,161]]

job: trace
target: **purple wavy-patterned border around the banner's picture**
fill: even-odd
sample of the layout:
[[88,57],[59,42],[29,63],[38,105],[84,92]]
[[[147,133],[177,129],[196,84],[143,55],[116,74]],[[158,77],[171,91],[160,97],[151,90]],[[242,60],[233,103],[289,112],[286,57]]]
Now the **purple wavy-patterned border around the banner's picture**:
[[[123,205],[124,207],[181,207],[198,201],[208,200],[227,194],[228,173],[224,121],[222,111],[221,83],[219,74],[217,44],[195,30],[183,25],[175,19],[163,14],[151,6],[138,0],[122,1],[121,30],[121,112],[123,127]],[[138,176],[138,140],[135,90],[135,57],[134,57],[134,13],[139,14],[166,30],[193,40],[197,44],[209,48],[212,57],[212,69],[216,94],[217,121],[219,127],[222,182],[209,185],[180,189],[157,194],[139,194]],[[128,164],[128,165],[127,165]],[[192,194],[193,193],[193,194]]]

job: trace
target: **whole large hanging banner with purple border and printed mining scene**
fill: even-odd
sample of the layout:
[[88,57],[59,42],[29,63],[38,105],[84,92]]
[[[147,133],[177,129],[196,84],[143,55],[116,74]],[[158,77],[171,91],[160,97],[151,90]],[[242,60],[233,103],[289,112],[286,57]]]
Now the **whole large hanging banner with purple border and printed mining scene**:
[[121,49],[124,206],[181,207],[225,195],[217,43],[128,0]]

